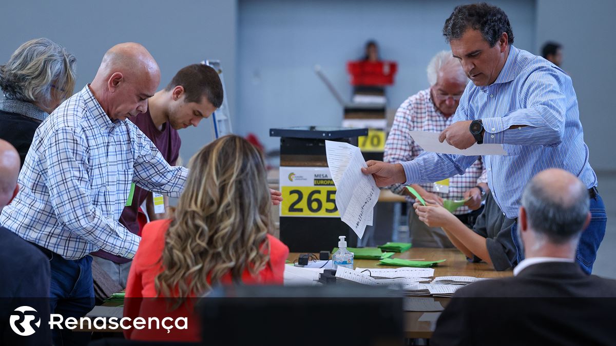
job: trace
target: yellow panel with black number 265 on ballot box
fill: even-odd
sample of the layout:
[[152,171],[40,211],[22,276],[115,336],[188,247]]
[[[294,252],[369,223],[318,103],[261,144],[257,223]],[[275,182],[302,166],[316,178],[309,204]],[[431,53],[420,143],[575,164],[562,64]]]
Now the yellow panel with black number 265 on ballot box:
[[336,216],[336,187],[283,186],[281,216]]

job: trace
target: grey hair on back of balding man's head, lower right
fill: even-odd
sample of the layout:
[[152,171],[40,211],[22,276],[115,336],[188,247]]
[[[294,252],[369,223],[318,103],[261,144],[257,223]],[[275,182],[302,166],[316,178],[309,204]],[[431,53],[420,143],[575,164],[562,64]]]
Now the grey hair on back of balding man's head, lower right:
[[[522,206],[532,229],[554,244],[577,239],[588,217],[588,190],[580,180],[572,194],[561,198],[562,191],[548,191],[540,179],[532,179],[522,193]],[[566,200],[565,200],[566,199]]]

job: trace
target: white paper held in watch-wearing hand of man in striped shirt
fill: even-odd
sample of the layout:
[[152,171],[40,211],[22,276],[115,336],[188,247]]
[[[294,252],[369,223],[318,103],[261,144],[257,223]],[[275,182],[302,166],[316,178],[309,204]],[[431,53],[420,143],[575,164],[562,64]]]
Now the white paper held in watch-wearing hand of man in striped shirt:
[[440,132],[426,131],[410,131],[411,137],[419,147],[425,151],[441,154],[455,154],[464,156],[481,156],[481,155],[507,155],[502,144],[477,144],[475,143],[470,148],[458,149],[449,145],[447,141],[439,142]]

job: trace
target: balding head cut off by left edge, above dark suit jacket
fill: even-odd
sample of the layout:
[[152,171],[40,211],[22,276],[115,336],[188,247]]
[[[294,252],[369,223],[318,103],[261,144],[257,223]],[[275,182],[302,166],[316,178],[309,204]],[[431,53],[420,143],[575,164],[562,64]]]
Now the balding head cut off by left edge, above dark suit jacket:
[[17,150],[0,139],[0,211],[17,195],[20,159]]

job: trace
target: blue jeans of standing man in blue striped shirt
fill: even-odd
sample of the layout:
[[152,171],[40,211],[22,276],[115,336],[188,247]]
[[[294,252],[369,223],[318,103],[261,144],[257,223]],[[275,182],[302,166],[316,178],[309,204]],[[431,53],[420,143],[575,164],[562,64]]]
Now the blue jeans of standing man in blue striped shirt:
[[[582,270],[588,274],[593,272],[593,264],[594,260],[597,259],[599,244],[606,235],[606,206],[603,204],[603,199],[599,196],[599,193],[596,194],[596,198],[590,198],[590,214],[590,223],[586,230],[582,232],[577,248],[577,262]],[[511,238],[516,245],[517,262],[519,263],[524,259],[524,251],[520,246],[522,240],[517,237],[517,221],[511,228]]]

